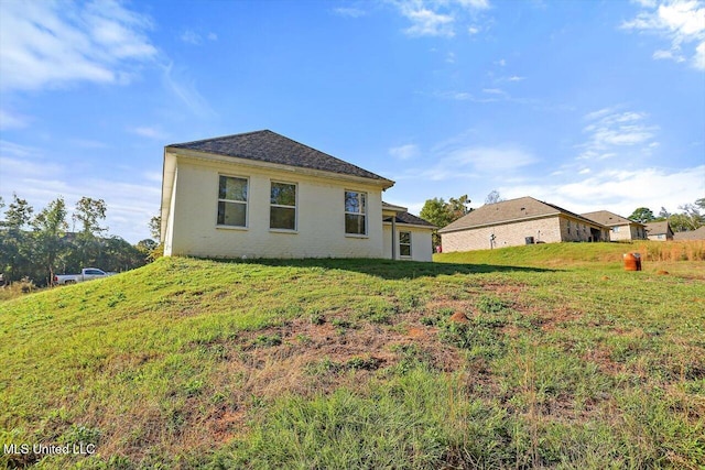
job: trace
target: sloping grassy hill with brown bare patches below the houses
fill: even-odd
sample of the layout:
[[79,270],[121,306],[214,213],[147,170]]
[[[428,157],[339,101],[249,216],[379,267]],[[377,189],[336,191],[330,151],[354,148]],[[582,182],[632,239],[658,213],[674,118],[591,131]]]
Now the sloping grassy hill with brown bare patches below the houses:
[[623,251],[162,259],[2,302],[0,466],[699,468],[705,262]]

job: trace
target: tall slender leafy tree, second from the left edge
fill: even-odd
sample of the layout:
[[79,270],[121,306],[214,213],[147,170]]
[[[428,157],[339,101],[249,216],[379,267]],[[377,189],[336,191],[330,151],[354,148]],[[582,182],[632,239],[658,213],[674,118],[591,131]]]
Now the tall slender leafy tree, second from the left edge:
[[34,229],[35,254],[45,272],[48,272],[48,283],[54,280],[56,260],[64,252],[63,237],[68,229],[66,223],[66,203],[63,197],[51,201],[32,220]]

